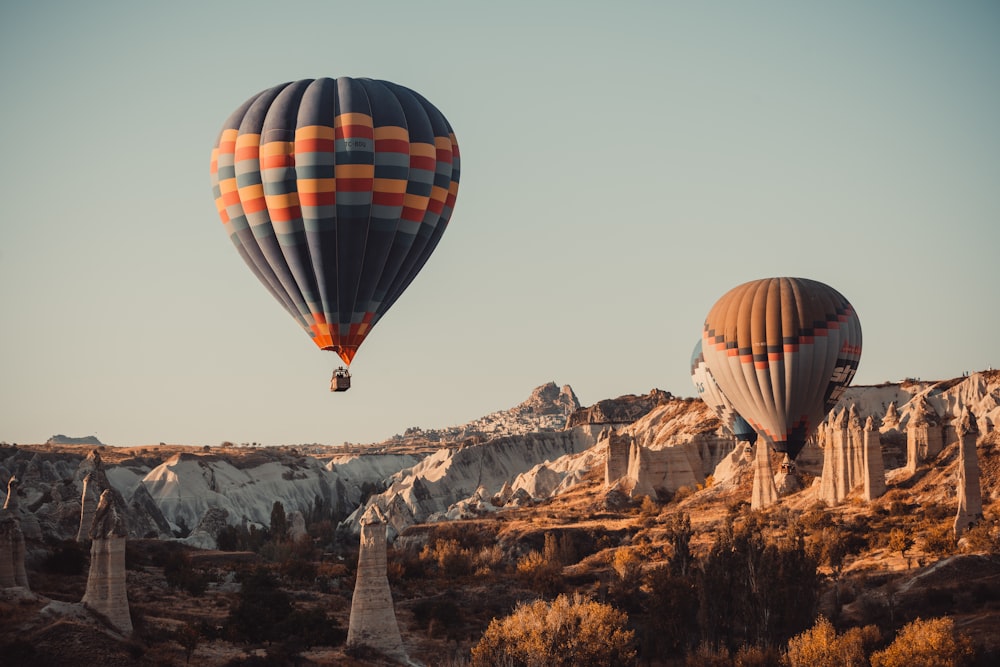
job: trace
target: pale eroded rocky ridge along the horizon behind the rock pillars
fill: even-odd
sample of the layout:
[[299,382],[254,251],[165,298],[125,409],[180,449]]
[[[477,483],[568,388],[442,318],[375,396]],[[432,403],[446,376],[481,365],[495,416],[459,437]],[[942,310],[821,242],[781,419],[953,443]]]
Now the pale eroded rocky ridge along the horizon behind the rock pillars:
[[[905,456],[906,429],[916,420],[940,424],[947,443],[953,439],[951,421],[967,409],[984,437],[994,432],[1000,423],[1000,372],[852,387],[842,405],[883,424],[891,472]],[[345,526],[352,529],[357,516],[352,513],[377,503],[402,531],[414,523],[562,493],[588,472],[603,469],[609,443],[622,439],[631,443],[623,445],[626,450],[639,448],[636,469],[628,472],[633,492],[672,494],[709,477],[725,483],[747,463],[700,400],[654,389],[581,408],[569,386],[548,383],[510,410],[448,429],[412,428],[350,454],[316,446],[308,454],[290,447],[3,447],[0,485],[5,490],[11,477],[19,480],[20,505],[31,514],[28,530],[39,536],[77,534],[83,481],[98,451],[107,483],[129,505],[133,537],[186,535],[209,510],[220,510],[231,525],[267,526],[275,501],[288,513],[320,508],[346,516]],[[422,451],[415,446],[431,442],[437,445]],[[822,452],[807,447],[800,465],[804,473],[818,475]]]

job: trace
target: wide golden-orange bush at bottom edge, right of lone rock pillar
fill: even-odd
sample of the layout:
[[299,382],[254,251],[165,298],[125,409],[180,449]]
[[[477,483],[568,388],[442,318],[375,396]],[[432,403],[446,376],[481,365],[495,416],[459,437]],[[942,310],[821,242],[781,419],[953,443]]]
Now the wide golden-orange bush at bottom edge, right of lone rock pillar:
[[473,667],[618,667],[635,664],[628,617],[579,593],[519,604],[493,619],[472,649]]

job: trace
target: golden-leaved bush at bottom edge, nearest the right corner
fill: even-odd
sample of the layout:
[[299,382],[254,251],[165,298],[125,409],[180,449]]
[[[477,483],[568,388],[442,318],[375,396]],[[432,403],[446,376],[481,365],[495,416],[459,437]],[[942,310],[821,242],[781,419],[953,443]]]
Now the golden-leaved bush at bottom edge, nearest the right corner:
[[955,632],[947,617],[917,619],[903,626],[884,650],[871,655],[872,667],[964,667],[975,658],[972,642]]

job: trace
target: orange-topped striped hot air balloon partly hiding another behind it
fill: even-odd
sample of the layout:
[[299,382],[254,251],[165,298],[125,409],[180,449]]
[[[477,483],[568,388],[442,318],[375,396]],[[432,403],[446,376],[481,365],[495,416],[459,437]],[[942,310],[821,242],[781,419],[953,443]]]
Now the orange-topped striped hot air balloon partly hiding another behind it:
[[828,285],[765,278],[734,287],[712,306],[702,348],[736,411],[794,460],[854,377],[861,322]]

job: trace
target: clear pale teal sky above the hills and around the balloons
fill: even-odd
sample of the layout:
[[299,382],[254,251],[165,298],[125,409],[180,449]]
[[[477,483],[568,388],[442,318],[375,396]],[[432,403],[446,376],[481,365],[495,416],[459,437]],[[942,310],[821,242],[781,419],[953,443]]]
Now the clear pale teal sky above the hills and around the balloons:
[[[693,395],[737,284],[855,306],[855,383],[1000,365],[1000,3],[5,2],[0,440],[376,442],[543,383]],[[328,391],[222,229],[225,118],[295,79],[424,94],[431,261]]]

